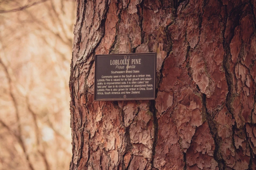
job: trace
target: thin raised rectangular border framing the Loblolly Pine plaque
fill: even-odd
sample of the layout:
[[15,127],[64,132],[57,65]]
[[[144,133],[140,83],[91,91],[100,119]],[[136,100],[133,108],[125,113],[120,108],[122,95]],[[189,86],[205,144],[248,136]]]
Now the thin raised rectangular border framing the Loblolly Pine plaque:
[[[138,54],[155,54],[155,73],[154,73],[154,98],[120,98],[120,99],[96,99],[96,63],[97,56],[109,56],[109,55],[138,55]],[[156,52],[145,52],[145,53],[122,53],[122,54],[95,54],[94,58],[94,101],[119,101],[119,100],[156,100]]]

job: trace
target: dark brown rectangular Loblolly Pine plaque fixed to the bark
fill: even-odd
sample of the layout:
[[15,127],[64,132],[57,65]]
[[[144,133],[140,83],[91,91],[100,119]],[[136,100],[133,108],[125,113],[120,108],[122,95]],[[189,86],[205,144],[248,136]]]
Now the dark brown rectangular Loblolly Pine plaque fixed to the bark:
[[155,99],[156,53],[95,55],[94,100]]

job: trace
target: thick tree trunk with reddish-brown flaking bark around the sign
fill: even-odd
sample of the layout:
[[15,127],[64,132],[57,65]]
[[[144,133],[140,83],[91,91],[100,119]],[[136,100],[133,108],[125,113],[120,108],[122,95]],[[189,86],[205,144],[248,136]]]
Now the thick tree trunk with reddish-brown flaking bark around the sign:
[[[256,0],[77,0],[70,170],[256,169]],[[157,99],[94,102],[94,56],[157,53]]]

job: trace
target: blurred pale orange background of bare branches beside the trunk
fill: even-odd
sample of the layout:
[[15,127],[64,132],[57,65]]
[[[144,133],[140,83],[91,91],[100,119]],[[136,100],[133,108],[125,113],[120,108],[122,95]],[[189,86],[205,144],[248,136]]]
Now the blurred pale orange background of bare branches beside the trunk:
[[68,169],[76,2],[0,0],[0,169]]

